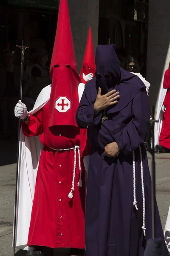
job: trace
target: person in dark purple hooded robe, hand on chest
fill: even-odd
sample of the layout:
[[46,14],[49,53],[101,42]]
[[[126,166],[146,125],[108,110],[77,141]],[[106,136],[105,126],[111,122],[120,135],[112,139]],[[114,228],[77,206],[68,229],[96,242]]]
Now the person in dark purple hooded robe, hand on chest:
[[[92,145],[86,256],[142,256],[152,236],[151,179],[143,144],[149,119],[144,83],[120,68],[114,45],[99,45],[96,78],[85,85],[77,109],[77,124],[88,126]],[[156,237],[164,238],[157,208]]]

